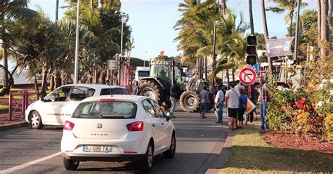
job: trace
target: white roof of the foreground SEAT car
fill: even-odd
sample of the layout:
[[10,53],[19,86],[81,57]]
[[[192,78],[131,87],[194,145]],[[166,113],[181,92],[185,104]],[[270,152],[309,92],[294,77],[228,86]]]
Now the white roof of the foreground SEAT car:
[[148,97],[141,95],[99,95],[96,97],[90,97],[82,100],[82,102],[93,102],[100,101],[101,99],[115,99],[115,100],[124,100],[129,102],[141,102]]

